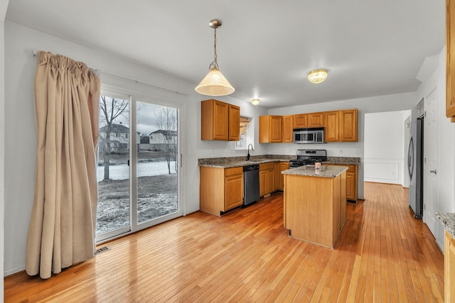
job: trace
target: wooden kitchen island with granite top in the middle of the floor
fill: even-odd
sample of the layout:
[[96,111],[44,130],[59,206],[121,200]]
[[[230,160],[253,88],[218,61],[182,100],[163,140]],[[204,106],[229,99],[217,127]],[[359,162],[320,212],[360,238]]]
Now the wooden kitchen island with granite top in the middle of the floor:
[[334,248],[346,221],[346,170],[314,165],[284,170],[284,228],[289,236]]

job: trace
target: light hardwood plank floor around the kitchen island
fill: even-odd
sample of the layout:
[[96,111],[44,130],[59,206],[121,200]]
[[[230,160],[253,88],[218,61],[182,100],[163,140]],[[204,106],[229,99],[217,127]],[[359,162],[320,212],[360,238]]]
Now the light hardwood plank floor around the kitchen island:
[[442,302],[444,257],[407,189],[365,183],[334,250],[289,238],[282,193],[222,218],[196,213],[105,245],[41,280],[5,279],[6,302]]

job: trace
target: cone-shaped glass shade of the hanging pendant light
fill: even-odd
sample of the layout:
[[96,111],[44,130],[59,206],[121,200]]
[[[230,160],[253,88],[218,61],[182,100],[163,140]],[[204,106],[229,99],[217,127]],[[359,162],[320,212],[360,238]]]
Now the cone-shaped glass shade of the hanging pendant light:
[[226,96],[234,91],[234,87],[216,67],[212,67],[207,76],[196,87],[196,92],[207,96]]

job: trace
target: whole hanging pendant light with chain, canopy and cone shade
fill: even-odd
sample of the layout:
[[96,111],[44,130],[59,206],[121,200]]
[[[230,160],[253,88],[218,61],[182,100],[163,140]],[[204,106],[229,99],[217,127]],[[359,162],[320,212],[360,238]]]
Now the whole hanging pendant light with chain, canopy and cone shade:
[[205,94],[207,96],[226,96],[235,91],[234,87],[232,87],[225,76],[223,76],[220,70],[218,70],[218,62],[216,61],[216,29],[219,28],[221,24],[221,21],[218,19],[213,19],[208,22],[208,26],[215,30],[215,57],[213,62],[208,66],[210,72],[208,72],[207,76],[205,76],[205,78],[196,87],[196,92],[199,94]]

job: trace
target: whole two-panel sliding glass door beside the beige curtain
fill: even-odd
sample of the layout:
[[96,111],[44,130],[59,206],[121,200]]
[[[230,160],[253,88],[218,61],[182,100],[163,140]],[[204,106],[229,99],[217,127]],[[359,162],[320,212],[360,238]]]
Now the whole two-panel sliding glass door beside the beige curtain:
[[181,216],[178,109],[103,92],[96,240]]

